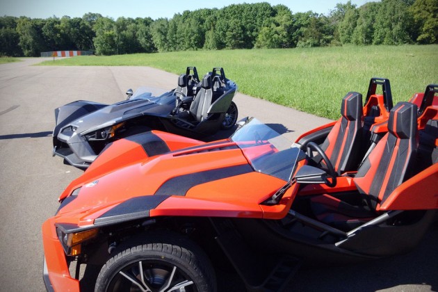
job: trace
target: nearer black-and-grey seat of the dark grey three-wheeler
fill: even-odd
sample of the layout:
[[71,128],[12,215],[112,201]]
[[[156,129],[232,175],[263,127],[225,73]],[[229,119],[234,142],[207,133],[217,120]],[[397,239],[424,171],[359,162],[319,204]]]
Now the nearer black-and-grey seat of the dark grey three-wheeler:
[[211,76],[205,74],[201,81],[201,89],[197,92],[192,104],[190,104],[190,114],[195,117],[197,122],[202,122],[207,111],[211,106],[213,90],[211,89]]

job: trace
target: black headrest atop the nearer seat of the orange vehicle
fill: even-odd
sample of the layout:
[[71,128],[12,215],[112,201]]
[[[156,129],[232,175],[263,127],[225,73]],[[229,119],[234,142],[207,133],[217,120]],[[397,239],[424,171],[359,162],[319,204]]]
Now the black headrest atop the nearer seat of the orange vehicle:
[[399,102],[389,112],[388,131],[397,138],[412,138],[416,134],[417,106]]

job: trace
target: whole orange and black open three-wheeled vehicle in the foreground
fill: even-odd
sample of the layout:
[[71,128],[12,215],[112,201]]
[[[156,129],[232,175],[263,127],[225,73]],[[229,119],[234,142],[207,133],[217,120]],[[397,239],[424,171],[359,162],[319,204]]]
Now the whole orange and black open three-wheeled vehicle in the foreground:
[[292,147],[254,118],[211,143],[117,140],[42,226],[47,290],[79,291],[86,264],[95,291],[216,291],[225,261],[248,290],[279,291],[303,264],[414,248],[438,209],[437,91],[393,107],[371,79]]

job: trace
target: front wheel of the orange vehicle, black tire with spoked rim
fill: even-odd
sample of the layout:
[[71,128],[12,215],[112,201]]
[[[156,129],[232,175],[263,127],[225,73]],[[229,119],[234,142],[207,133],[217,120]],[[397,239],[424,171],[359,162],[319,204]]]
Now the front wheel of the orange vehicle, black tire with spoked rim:
[[163,234],[137,238],[117,248],[102,267],[95,291],[142,291],[138,285],[152,292],[178,285],[186,285],[187,292],[214,292],[216,276],[208,257],[195,243],[176,234]]

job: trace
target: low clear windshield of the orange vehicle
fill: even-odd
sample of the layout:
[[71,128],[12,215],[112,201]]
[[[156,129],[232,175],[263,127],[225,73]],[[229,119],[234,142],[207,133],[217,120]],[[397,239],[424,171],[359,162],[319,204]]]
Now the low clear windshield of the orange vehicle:
[[296,163],[305,158],[304,152],[291,147],[291,142],[279,133],[251,118],[231,137],[252,168],[266,175],[289,181]]

